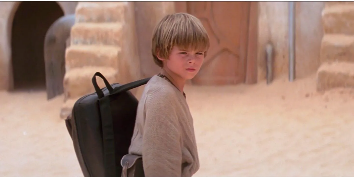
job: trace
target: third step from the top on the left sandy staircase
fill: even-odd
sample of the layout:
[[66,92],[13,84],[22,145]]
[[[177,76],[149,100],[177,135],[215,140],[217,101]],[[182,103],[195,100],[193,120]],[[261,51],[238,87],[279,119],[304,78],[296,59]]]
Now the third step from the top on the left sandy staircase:
[[65,63],[70,69],[96,66],[118,68],[121,48],[104,45],[72,45],[65,51]]

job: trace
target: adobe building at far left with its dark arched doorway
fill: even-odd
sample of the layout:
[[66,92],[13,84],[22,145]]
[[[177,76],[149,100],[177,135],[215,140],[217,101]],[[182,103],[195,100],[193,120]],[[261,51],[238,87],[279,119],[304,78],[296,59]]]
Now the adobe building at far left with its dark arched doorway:
[[45,86],[44,37],[59,17],[75,13],[76,1],[0,2],[0,89]]

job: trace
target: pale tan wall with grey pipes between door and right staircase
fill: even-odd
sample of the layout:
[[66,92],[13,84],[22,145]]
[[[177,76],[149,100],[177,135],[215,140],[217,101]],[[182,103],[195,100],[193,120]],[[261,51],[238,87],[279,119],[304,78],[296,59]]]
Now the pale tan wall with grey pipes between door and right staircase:
[[[323,36],[321,12],[324,2],[296,2],[296,78],[315,73],[319,67]],[[265,79],[264,46],[274,45],[274,77],[288,75],[289,2],[259,2],[258,13],[258,81]]]

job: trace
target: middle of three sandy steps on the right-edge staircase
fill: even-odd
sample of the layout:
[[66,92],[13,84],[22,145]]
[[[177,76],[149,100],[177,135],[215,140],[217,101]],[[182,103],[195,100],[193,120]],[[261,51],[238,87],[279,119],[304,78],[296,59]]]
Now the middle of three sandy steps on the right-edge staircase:
[[354,62],[354,35],[325,34],[322,38],[320,56],[321,63]]

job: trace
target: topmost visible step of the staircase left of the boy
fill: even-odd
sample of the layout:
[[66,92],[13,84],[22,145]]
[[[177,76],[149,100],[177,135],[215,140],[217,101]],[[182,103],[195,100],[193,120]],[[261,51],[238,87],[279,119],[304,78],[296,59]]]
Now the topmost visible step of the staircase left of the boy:
[[76,23],[123,22],[127,1],[79,2],[75,10]]

